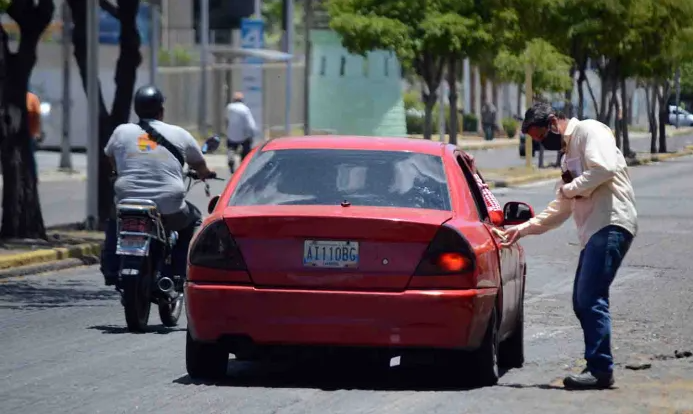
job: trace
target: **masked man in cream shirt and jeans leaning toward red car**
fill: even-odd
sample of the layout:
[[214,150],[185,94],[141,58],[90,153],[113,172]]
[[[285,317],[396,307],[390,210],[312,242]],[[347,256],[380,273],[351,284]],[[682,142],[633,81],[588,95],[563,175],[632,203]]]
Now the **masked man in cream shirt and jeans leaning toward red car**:
[[522,132],[549,151],[565,146],[556,199],[536,217],[505,232],[521,237],[555,229],[573,215],[582,251],[573,286],[573,310],[585,339],[587,368],[563,380],[566,388],[614,384],[609,287],[638,230],[635,195],[626,160],[611,129],[595,120],[566,117],[544,103],[525,114]]

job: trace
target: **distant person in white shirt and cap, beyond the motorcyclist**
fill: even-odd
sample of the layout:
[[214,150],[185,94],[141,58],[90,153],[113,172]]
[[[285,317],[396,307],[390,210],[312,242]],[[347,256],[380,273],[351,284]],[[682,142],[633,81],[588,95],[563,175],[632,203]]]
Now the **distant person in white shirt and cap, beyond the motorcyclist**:
[[250,153],[257,126],[250,108],[243,103],[243,94],[235,92],[233,101],[226,106],[226,143],[228,145],[229,169],[233,174],[241,161]]

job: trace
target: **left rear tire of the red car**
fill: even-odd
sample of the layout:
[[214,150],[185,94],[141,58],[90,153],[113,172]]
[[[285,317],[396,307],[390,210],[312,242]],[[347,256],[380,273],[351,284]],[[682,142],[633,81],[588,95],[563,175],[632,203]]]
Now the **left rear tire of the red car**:
[[190,331],[185,337],[185,368],[192,379],[219,380],[226,376],[229,352],[218,344],[195,341]]

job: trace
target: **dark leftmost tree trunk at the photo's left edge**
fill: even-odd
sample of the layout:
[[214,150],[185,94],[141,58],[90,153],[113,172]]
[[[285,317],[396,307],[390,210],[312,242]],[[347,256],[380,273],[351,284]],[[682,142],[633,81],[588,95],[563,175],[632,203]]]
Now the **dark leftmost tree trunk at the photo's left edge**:
[[0,27],[0,143],[3,174],[0,238],[46,239],[30,143],[27,89],[36,65],[36,46],[55,8],[52,0],[15,1],[7,14],[20,31],[17,52]]

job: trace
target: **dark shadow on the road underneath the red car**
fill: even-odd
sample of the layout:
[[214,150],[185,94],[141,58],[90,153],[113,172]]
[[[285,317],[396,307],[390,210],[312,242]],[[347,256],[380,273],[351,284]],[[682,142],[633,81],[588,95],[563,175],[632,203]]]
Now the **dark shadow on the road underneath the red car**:
[[188,375],[181,385],[218,387],[311,388],[323,391],[469,391],[479,388],[474,378],[441,367],[373,367],[323,364],[251,363],[231,361],[224,380],[196,381]]

